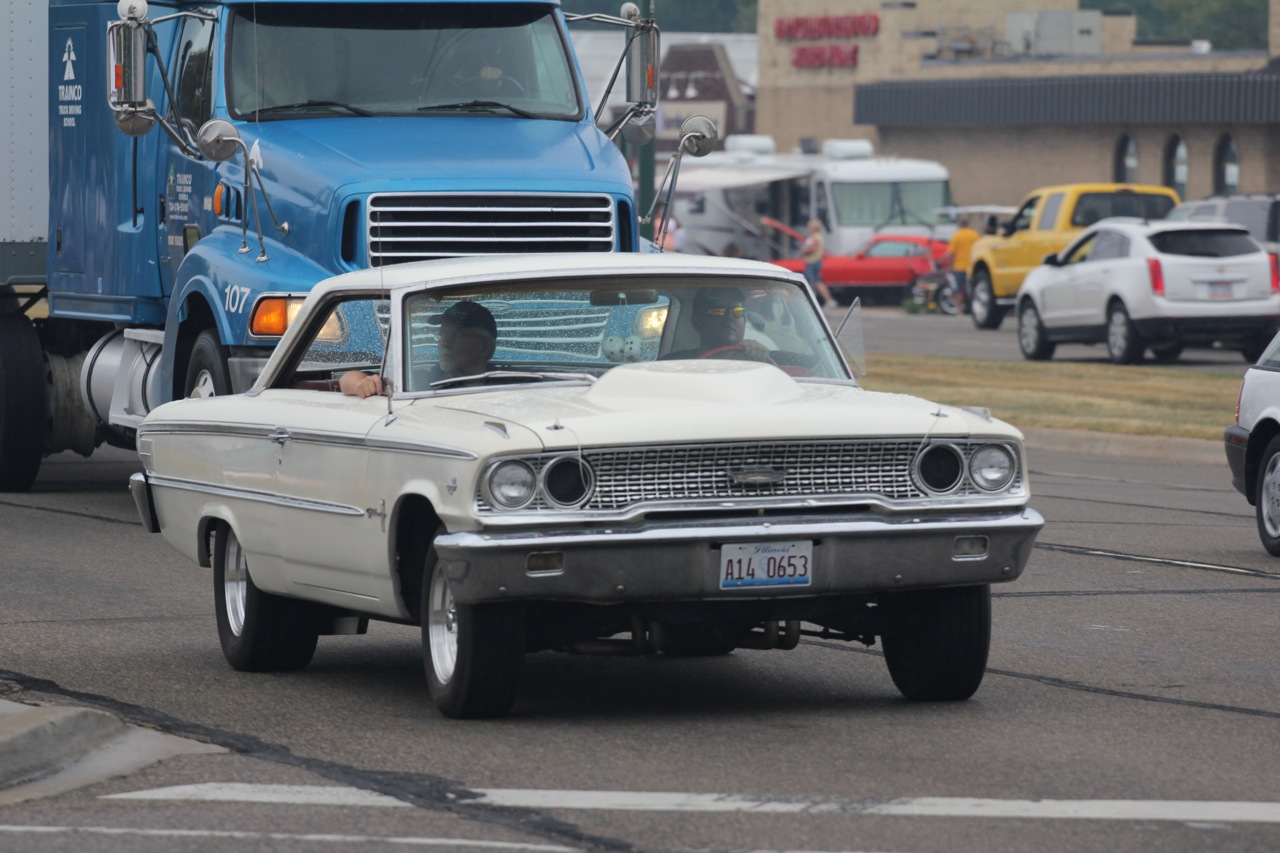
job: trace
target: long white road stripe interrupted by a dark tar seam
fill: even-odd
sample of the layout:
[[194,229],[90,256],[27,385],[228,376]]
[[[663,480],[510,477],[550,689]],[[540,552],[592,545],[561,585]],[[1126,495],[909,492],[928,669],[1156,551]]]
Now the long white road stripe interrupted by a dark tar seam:
[[[974,797],[901,797],[895,799],[769,798],[739,794],[691,794],[625,790],[547,790],[481,788],[472,803],[515,808],[603,809],[637,812],[751,812],[758,815],[840,813],[899,817],[1018,817],[1123,821],[1199,821],[1208,824],[1280,824],[1280,803],[1164,799],[984,799]],[[196,799],[311,806],[404,806],[398,799],[334,785],[247,785],[205,783],[177,785],[104,799]]]

